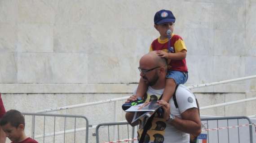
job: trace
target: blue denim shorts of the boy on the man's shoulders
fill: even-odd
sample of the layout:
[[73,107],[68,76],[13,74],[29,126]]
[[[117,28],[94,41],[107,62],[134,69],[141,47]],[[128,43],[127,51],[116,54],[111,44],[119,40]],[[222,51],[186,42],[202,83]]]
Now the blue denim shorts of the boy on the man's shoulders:
[[185,84],[188,80],[188,72],[182,71],[167,71],[166,78],[172,78],[176,84]]

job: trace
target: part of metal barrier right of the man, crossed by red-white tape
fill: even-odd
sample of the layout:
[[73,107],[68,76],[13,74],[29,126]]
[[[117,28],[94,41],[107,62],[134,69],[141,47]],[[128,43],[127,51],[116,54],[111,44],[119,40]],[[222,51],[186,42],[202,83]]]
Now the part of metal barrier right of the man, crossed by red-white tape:
[[201,121],[199,138],[207,139],[207,143],[253,143],[252,121],[246,116],[201,118]]

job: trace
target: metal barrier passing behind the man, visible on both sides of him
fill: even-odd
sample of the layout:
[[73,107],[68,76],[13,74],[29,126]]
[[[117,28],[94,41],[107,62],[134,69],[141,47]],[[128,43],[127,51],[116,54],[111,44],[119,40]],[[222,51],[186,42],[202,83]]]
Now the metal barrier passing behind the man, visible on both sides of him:
[[[253,143],[252,122],[248,117],[201,118],[201,120],[202,133],[198,137],[198,143]],[[121,138],[119,130],[117,130],[118,135],[113,132],[115,130],[114,126],[120,125],[129,127],[128,122],[99,124],[96,127],[96,143],[133,143],[136,140],[134,138],[135,128],[132,127],[131,138],[129,138],[129,132],[128,136]],[[107,134],[99,134],[102,127],[107,129],[102,131],[103,133],[107,132]],[[124,132],[124,130],[122,131]]]

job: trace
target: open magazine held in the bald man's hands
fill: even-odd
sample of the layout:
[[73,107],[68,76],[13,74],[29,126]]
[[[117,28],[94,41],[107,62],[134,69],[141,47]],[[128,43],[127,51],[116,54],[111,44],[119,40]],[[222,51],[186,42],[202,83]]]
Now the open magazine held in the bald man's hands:
[[145,119],[142,121],[144,122],[142,125],[145,125],[150,116],[161,106],[163,105],[160,105],[157,101],[151,101],[131,106],[129,109],[125,110],[125,112],[134,112],[132,123],[137,121],[139,118],[144,117]]

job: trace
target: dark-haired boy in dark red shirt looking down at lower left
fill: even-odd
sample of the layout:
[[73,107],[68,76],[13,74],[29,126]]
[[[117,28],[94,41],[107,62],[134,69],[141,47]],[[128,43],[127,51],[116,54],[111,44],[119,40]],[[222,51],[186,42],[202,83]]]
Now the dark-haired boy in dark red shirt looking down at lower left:
[[25,119],[17,110],[9,110],[1,118],[0,126],[11,143],[38,143],[25,135]]

